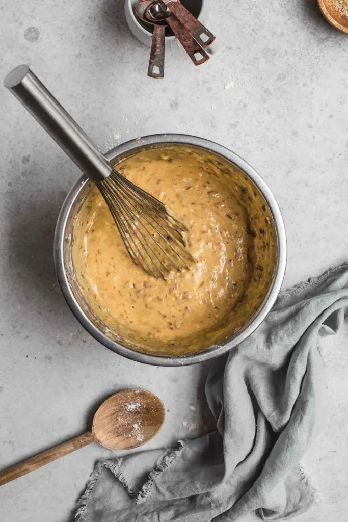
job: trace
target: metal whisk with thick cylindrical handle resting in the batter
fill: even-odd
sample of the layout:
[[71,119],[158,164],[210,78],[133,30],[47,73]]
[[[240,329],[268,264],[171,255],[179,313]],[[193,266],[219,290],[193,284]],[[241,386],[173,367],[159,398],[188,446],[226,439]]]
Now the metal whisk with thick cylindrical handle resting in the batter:
[[27,65],[5,78],[7,87],[99,188],[134,263],[155,277],[189,268],[187,227],[161,201],[127,180],[102,155]]

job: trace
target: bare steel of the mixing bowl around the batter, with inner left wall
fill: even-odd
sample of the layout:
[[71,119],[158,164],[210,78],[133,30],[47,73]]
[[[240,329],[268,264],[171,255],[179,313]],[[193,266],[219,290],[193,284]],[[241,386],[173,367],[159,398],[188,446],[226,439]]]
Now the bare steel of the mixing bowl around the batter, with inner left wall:
[[74,218],[86,197],[86,193],[88,192],[87,188],[89,182],[86,176],[81,176],[67,195],[61,212],[59,213],[54,238],[54,259],[58,281],[71,311],[75,314],[81,325],[95,339],[97,339],[107,348],[110,348],[110,350],[124,355],[124,357],[129,359],[134,359],[135,361],[162,366],[181,366],[206,361],[231,350],[231,348],[236,347],[239,343],[246,339],[260,325],[263,319],[265,319],[266,315],[271,310],[271,307],[277,299],[283,281],[286,265],[286,236],[284,223],[278,204],[265,181],[262,180],[259,174],[252,167],[250,167],[246,161],[237,156],[234,152],[203,138],[186,136],[182,134],[160,134],[128,141],[127,143],[119,145],[118,147],[110,150],[106,156],[109,160],[113,160],[115,158],[127,157],[139,150],[153,148],[156,145],[173,146],[175,144],[199,147],[208,152],[213,152],[222,157],[224,160],[231,162],[238,169],[242,170],[243,173],[246,174],[246,176],[248,176],[252,182],[254,182],[269,206],[269,210],[274,222],[275,234],[277,236],[276,239],[278,252],[274,276],[268,293],[261,306],[259,306],[258,310],[251,318],[249,323],[240,331],[238,331],[238,333],[232,335],[230,339],[221,343],[219,346],[212,346],[208,350],[180,357],[162,357],[135,351],[131,348],[123,346],[105,334],[105,327],[104,329],[102,328],[102,325],[99,324],[98,318],[93,316],[93,314],[89,312],[87,304],[83,303],[83,298],[81,298],[81,294],[74,277],[74,267],[71,259],[71,238],[73,233]]

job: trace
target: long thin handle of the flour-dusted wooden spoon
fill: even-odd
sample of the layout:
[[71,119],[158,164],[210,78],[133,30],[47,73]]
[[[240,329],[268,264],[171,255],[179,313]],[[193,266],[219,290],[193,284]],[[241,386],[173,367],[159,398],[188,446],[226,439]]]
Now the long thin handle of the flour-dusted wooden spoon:
[[23,462],[19,462],[19,464],[16,464],[15,466],[10,466],[9,468],[0,471],[0,485],[18,479],[18,477],[41,468],[41,466],[49,464],[49,462],[52,462],[57,458],[75,452],[76,449],[83,448],[83,446],[87,446],[87,444],[90,444],[93,441],[94,437],[92,432],[88,431],[87,433],[82,433],[82,435],[79,435],[78,437],[71,438],[70,441],[59,444],[54,448],[47,449],[45,452],[39,453],[39,455],[23,460]]

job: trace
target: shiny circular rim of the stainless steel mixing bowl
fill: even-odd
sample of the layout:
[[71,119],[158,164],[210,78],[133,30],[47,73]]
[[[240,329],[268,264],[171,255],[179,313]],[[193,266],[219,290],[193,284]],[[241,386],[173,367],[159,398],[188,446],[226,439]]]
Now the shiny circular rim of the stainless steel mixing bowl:
[[205,138],[199,138],[196,136],[188,136],[182,134],[155,134],[151,136],[136,138],[127,141],[122,145],[118,145],[117,147],[107,152],[106,157],[109,160],[111,160],[129,151],[135,151],[136,149],[142,147],[163,144],[198,146],[203,149],[215,152],[218,155],[224,157],[225,159],[231,161],[238,168],[242,169],[250,177],[250,179],[255,182],[255,184],[257,185],[257,187],[259,188],[260,192],[262,193],[263,197],[265,197],[269,205],[275,224],[275,229],[277,232],[277,267],[275,268],[275,276],[271,288],[268,291],[268,295],[263,304],[261,305],[260,310],[251,319],[250,323],[238,334],[236,334],[232,339],[221,343],[219,346],[211,347],[209,350],[200,353],[194,353],[178,357],[163,357],[162,355],[149,355],[147,353],[137,352],[130,348],[126,348],[125,346],[122,346],[118,342],[113,341],[112,339],[107,337],[105,334],[102,333],[102,331],[100,331],[96,326],[94,326],[90,319],[81,310],[77,300],[75,299],[75,296],[69,286],[64,266],[65,228],[69,217],[70,209],[74,205],[75,199],[81,191],[82,187],[88,182],[87,177],[84,175],[82,175],[80,179],[75,183],[75,185],[71,188],[63,203],[61,212],[59,213],[54,236],[54,263],[59,284],[61,286],[65,300],[70,307],[70,310],[76,316],[81,325],[95,339],[101,342],[102,345],[114,351],[115,353],[118,353],[119,355],[123,355],[124,357],[128,359],[133,359],[137,362],[153,364],[156,366],[184,366],[188,364],[195,364],[207,361],[209,359],[218,357],[223,353],[226,353],[227,351],[239,345],[247,337],[249,337],[249,335],[251,335],[256,330],[256,328],[262,323],[263,319],[265,319],[267,314],[270,312],[282,286],[286,267],[286,235],[284,222],[279,206],[265,181],[263,181],[261,176],[244,159],[237,156],[231,150],[223,147],[222,145],[218,145],[213,141],[207,140]]

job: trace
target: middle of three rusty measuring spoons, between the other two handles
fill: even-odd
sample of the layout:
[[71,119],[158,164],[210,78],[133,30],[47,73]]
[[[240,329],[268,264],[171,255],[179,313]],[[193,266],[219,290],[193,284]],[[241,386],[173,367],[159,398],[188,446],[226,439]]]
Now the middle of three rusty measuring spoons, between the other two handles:
[[171,13],[163,2],[154,1],[145,10],[146,22],[165,21],[172,29],[176,38],[182,44],[188,56],[195,65],[200,65],[209,60],[209,55],[193,38],[183,24]]

